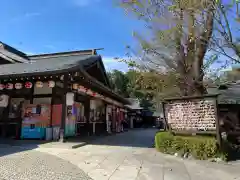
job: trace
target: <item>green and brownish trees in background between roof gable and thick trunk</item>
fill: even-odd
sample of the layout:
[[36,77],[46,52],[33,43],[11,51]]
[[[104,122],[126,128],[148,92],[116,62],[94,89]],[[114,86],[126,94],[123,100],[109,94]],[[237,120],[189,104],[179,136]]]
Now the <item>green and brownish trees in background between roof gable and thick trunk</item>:
[[179,92],[174,72],[129,70],[123,73],[114,70],[108,76],[115,92],[126,98],[137,98],[142,107],[151,110],[163,98],[178,95]]

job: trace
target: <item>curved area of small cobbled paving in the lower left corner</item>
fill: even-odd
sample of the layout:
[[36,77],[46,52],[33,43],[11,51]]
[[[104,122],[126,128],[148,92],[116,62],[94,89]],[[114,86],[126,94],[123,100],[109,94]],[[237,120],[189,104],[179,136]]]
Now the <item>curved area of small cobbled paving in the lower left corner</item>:
[[0,146],[0,180],[90,180],[77,166],[56,156]]

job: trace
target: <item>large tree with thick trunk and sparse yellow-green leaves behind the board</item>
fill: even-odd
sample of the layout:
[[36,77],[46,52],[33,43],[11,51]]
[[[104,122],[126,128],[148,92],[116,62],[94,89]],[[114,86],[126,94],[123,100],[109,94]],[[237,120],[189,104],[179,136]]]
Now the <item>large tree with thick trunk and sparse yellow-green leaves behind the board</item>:
[[141,44],[141,67],[158,72],[175,71],[182,95],[206,93],[204,68],[216,60],[212,56],[206,58],[216,3],[214,0],[122,1],[122,7],[143,20],[150,32],[147,37],[135,33]]

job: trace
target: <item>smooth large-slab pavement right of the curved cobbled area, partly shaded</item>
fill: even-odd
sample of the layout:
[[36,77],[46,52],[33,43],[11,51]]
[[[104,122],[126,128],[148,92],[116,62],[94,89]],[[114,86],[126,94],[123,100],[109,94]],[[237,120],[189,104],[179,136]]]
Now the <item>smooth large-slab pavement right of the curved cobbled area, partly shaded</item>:
[[133,130],[78,149],[37,148],[69,161],[94,180],[240,180],[240,164],[163,155],[152,147],[156,130]]

